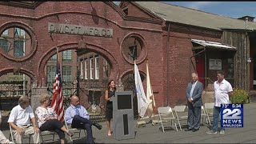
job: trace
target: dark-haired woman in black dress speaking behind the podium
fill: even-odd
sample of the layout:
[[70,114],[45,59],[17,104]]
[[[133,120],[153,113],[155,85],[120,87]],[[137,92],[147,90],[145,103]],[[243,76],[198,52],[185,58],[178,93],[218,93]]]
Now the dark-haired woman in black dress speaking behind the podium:
[[113,104],[110,102],[110,98],[114,97],[114,93],[116,90],[114,80],[110,80],[107,84],[107,90],[105,91],[105,99],[106,99],[106,126],[107,126],[107,135],[111,136],[111,126],[110,121],[113,118]]

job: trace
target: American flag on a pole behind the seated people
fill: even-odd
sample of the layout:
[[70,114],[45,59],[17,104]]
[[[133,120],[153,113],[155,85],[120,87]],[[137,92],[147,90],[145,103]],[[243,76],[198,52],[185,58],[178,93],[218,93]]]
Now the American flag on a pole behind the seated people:
[[54,93],[53,100],[50,103],[50,106],[54,109],[56,114],[58,114],[58,120],[63,122],[64,118],[64,104],[63,104],[63,95],[62,95],[62,79],[61,79],[61,70],[60,70],[59,55],[57,49],[57,64],[56,64],[56,77],[54,79]]

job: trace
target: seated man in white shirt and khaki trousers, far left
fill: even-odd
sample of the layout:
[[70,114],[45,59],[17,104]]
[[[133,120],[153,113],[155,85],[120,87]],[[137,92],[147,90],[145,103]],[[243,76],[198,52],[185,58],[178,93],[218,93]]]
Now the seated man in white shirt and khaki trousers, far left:
[[12,129],[14,129],[14,137],[17,143],[22,143],[24,134],[33,134],[34,143],[40,142],[39,129],[36,125],[33,109],[30,106],[30,99],[26,96],[18,99],[18,106],[14,106],[10,111],[8,122]]

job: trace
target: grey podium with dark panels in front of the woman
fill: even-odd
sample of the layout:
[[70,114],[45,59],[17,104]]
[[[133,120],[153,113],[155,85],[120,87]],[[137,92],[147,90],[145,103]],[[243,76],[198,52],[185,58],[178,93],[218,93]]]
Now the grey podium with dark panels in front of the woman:
[[132,139],[134,134],[133,92],[116,91],[113,102],[113,136],[117,140]]

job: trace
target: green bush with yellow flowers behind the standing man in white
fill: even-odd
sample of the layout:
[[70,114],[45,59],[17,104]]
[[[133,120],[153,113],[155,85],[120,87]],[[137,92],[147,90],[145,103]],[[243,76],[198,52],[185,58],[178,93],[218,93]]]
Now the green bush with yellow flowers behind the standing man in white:
[[235,89],[233,91],[233,95],[230,96],[230,101],[232,103],[245,103],[247,99],[249,98],[249,94],[246,92],[246,90],[238,90]]

